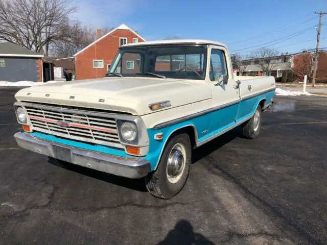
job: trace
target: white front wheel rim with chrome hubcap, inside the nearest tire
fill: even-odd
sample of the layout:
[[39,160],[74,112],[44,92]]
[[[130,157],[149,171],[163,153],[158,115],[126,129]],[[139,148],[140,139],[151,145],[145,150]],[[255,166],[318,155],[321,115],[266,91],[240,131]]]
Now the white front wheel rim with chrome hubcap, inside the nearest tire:
[[180,180],[185,168],[185,156],[184,146],[181,143],[175,144],[169,154],[167,163],[166,174],[169,182],[176,183]]

